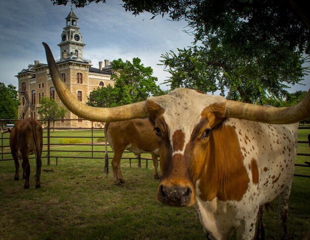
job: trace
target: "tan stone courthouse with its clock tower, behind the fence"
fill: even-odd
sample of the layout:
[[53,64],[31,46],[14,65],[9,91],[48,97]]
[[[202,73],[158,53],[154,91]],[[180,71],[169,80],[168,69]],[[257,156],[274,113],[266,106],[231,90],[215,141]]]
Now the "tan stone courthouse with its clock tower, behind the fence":
[[[107,85],[114,86],[114,81],[110,80],[112,67],[108,60],[99,62],[99,68],[92,67],[90,60],[83,57],[83,48],[86,44],[82,41],[82,35],[79,32],[78,17],[72,8],[69,15],[65,18],[66,25],[60,36],[60,59],[56,60],[56,65],[62,76],[63,81],[70,89],[71,93],[83,103],[87,102],[87,96],[98,87]],[[40,100],[42,97],[50,96],[55,99],[59,105],[62,105],[55,92],[52,83],[49,67],[47,64],[35,60],[28,68],[20,71],[18,78],[19,101],[21,105],[18,108],[20,119],[32,117],[40,119],[38,114],[40,109]],[[76,121],[57,121],[57,127],[91,127],[92,123],[87,120],[79,120],[79,117],[66,111],[65,119],[78,119]],[[93,123],[93,126],[101,126],[101,123]]]

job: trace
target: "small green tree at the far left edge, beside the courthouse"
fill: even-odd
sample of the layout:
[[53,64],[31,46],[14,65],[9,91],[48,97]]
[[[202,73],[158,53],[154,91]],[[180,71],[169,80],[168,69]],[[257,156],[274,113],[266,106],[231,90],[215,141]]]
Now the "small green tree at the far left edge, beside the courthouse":
[[17,119],[18,118],[18,91],[12,84],[5,87],[0,83],[0,118]]

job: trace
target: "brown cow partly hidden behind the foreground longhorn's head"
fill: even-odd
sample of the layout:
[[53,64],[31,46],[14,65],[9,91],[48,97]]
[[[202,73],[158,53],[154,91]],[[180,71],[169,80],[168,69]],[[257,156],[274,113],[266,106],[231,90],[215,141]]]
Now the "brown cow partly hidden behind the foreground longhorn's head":
[[[149,119],[132,119],[121,122],[106,123],[104,126],[105,158],[108,160],[106,141],[113,150],[111,161],[113,179],[116,184],[125,183],[120,170],[120,160],[123,152],[127,149],[136,155],[151,153],[154,164],[154,178],[158,176],[158,144],[154,126]],[[106,162],[105,168],[108,167]],[[107,171],[107,170],[106,170]]]

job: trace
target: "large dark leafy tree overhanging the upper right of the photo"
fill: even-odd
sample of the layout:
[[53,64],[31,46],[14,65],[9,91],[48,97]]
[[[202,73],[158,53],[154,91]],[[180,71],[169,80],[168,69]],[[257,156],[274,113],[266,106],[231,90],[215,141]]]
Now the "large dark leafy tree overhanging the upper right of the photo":
[[[66,0],[52,2],[66,4]],[[101,1],[72,2],[84,7],[91,2]],[[196,46],[162,56],[163,65],[173,75],[168,80],[171,87],[189,86],[202,91],[218,89],[222,95],[227,94],[229,99],[262,103],[267,94],[275,98],[286,96],[288,93],[284,89],[287,85],[299,83],[309,72],[308,68],[303,67],[310,53],[309,29],[290,1],[123,2],[125,10],[133,14],[147,11],[154,16],[168,14],[172,20],[187,21],[188,33],[195,36]],[[302,2],[295,0],[293,3],[298,5]],[[184,61],[188,59],[191,61]]]

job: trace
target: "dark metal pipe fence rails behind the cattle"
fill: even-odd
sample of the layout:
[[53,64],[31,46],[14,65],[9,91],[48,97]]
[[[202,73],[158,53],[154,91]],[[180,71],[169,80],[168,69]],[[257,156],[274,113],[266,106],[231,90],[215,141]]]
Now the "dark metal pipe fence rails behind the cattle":
[[[7,122],[14,122],[17,121],[18,119],[0,119],[0,126],[1,128],[4,127],[4,123]],[[46,141],[43,144],[43,152],[47,153],[42,154],[42,158],[47,158],[47,162],[48,165],[51,164],[51,158],[55,158],[56,159],[56,165],[58,163],[58,158],[81,158],[81,159],[87,159],[87,158],[94,158],[94,159],[103,159],[104,156],[94,156],[94,153],[105,153],[104,150],[94,150],[94,146],[105,146],[105,144],[100,144],[95,142],[94,143],[94,139],[98,139],[98,138],[104,138],[104,136],[95,136],[94,137],[94,131],[102,131],[103,132],[103,128],[99,128],[99,127],[95,127],[93,126],[93,122],[92,122],[92,127],[90,128],[86,128],[86,127],[73,127],[73,128],[68,128],[68,127],[51,127],[51,122],[52,121],[79,121],[79,120],[83,120],[83,119],[47,119],[47,120],[39,120],[39,121],[44,121],[47,122],[47,126],[43,128],[44,131],[46,131],[47,136],[44,136],[44,140],[46,139]],[[310,129],[310,127],[308,126],[300,126],[299,129]],[[56,143],[53,144],[51,143],[51,139],[61,139],[61,138],[66,138],[66,139],[70,139],[70,138],[77,138],[77,136],[51,136],[51,131],[53,130],[91,130],[91,136],[78,136],[78,138],[82,139],[82,138],[87,138],[87,139],[91,139],[91,143],[81,143],[81,144],[64,144],[64,143]],[[3,145],[4,140],[9,140],[9,137],[5,137],[6,135],[2,135],[1,134],[1,159],[0,161],[6,161],[6,160],[13,160],[13,158],[7,158],[4,156],[7,154],[11,154],[10,153],[10,149],[9,149],[9,145]],[[9,136],[9,135],[8,135]],[[298,144],[309,144],[310,142],[308,141],[298,141]],[[56,146],[74,146],[74,145],[80,145],[80,146],[91,146],[91,150],[59,150],[56,149]],[[52,148],[51,148],[52,147]],[[92,153],[91,156],[63,156],[63,155],[59,155],[59,153],[61,152],[81,152],[81,153]],[[113,151],[108,151],[109,153],[112,153]],[[124,151],[126,153],[129,153],[129,151]],[[58,154],[56,154],[58,153]],[[309,153],[303,153],[303,152],[298,152],[297,155],[299,156],[310,156]],[[34,157],[30,157],[30,158],[34,158]],[[132,157],[122,157],[121,159],[129,159],[130,161],[130,166],[131,166],[131,160],[132,159],[138,159],[138,166],[141,167],[141,160],[146,160],[146,167],[148,167],[148,160],[152,160],[152,158],[141,158],[141,157],[137,157],[137,156],[132,156]],[[295,166],[298,167],[305,167],[305,168],[309,168],[310,165],[308,164],[298,164],[296,163]],[[303,174],[295,174],[295,176],[299,176],[299,177],[307,177],[310,178],[309,175],[303,175]]]

